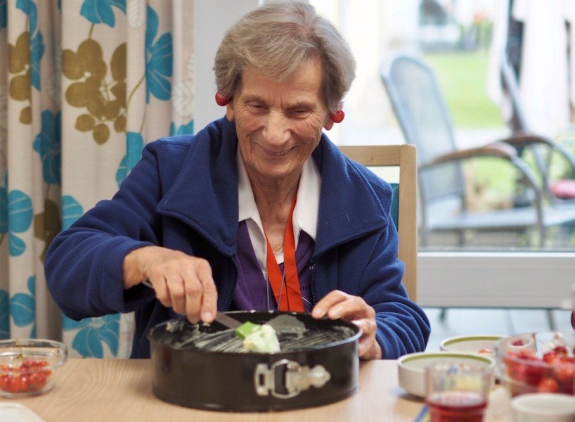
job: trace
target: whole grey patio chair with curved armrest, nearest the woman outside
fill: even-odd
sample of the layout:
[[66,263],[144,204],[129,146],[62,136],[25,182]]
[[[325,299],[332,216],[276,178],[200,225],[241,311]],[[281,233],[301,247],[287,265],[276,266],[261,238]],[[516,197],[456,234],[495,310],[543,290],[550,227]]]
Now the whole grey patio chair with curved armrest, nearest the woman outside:
[[[518,153],[534,143],[550,146],[549,142],[526,136],[458,149],[446,102],[428,65],[413,56],[394,56],[382,66],[381,77],[406,142],[418,149],[422,245],[428,244],[432,232],[454,232],[463,245],[465,232],[473,230],[536,231],[538,244],[543,246],[549,226],[575,222],[575,207],[548,205],[540,176]],[[570,158],[567,151],[558,151]],[[482,212],[469,210],[462,165],[465,160],[484,157],[498,158],[514,167],[520,185],[517,190],[529,188],[531,203]]]

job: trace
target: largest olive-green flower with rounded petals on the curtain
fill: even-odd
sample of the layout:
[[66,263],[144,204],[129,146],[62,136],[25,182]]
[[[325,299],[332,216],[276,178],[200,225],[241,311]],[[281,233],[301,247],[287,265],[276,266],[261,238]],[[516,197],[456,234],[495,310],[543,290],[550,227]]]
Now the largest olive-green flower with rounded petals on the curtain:
[[113,122],[116,132],[122,132],[126,124],[126,43],[112,53],[112,82],[106,80],[108,65],[98,41],[86,39],[77,51],[64,50],[62,61],[65,77],[77,81],[66,89],[66,101],[87,112],[77,118],[76,129],[92,132],[99,144],[110,138],[108,122]]

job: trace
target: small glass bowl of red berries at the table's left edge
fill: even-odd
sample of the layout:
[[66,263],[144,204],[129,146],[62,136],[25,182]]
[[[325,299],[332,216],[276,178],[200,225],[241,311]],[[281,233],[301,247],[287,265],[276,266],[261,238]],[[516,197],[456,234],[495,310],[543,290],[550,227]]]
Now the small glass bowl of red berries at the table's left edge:
[[67,347],[35,338],[0,341],[0,397],[39,395],[53,387],[56,370],[66,362]]

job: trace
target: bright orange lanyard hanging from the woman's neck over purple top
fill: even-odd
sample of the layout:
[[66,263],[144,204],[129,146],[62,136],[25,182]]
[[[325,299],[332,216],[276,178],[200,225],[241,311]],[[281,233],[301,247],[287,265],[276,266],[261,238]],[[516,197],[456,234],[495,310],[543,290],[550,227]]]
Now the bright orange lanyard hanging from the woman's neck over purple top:
[[285,288],[282,288],[284,276],[281,274],[280,266],[276,261],[276,256],[273,255],[273,250],[271,249],[267,236],[266,244],[268,252],[266,265],[268,267],[269,283],[271,284],[273,295],[276,296],[278,309],[280,311],[304,312],[304,302],[302,300],[302,293],[299,291],[299,277],[297,276],[297,265],[295,263],[295,238],[292,222],[296,200],[297,189],[294,193],[290,217],[288,218],[288,224],[285,226],[285,234],[283,236],[283,273],[285,275]]

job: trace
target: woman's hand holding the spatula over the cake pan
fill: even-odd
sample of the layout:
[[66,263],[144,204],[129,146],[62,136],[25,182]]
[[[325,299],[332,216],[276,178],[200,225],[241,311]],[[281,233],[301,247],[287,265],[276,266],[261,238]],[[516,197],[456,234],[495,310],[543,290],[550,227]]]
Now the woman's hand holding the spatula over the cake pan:
[[206,260],[160,246],[133,250],[124,258],[124,289],[146,279],[165,307],[193,323],[214,321],[218,293]]

